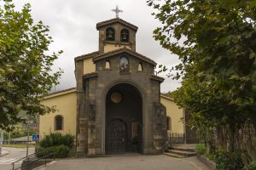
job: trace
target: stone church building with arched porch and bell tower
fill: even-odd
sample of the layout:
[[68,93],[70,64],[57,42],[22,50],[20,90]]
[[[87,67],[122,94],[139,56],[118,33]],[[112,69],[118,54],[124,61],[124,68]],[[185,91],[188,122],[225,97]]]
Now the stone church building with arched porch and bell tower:
[[[137,53],[137,26],[114,18],[96,24],[96,29],[99,49],[74,59],[76,88],[42,100],[75,113],[55,117],[49,130],[45,130],[49,115],[40,116],[40,134],[62,133],[65,124],[73,125],[69,132],[76,136],[78,156],[161,154],[170,128],[166,106],[160,102],[164,78],[154,74],[154,60]],[[172,99],[165,100],[168,105]],[[178,114],[181,118],[183,111]]]

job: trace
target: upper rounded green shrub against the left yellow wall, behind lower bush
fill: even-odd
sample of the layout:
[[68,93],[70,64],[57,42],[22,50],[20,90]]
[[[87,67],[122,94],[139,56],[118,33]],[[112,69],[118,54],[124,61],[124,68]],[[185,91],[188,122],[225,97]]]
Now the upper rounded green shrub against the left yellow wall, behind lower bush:
[[58,146],[61,144],[66,145],[68,148],[72,148],[73,141],[74,136],[71,134],[62,135],[61,133],[50,133],[49,135],[46,135],[39,144],[44,148]]

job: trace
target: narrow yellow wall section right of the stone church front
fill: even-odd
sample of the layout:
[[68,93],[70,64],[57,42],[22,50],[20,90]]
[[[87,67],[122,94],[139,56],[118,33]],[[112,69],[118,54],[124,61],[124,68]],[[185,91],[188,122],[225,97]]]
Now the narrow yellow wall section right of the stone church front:
[[166,106],[166,116],[170,116],[172,119],[172,133],[184,133],[183,122],[183,109],[178,108],[174,101],[166,96],[160,96],[161,104]]

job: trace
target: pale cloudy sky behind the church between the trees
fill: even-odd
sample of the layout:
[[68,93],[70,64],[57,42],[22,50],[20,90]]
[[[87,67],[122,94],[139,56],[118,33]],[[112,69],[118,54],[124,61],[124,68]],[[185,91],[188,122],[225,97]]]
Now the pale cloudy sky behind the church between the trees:
[[[176,65],[177,56],[161,48],[153,38],[153,30],[160,26],[151,15],[153,8],[147,0],[15,0],[17,9],[24,3],[31,3],[32,17],[35,22],[42,20],[49,26],[49,34],[54,41],[50,51],[63,50],[55,61],[53,70],[61,68],[61,84],[56,90],[75,87],[74,58],[98,50],[98,32],[96,23],[115,18],[111,9],[119,5],[124,12],[119,18],[138,26],[137,53],[154,59],[158,64]],[[161,92],[168,92],[179,87],[179,82],[160,74],[166,81],[161,84]]]

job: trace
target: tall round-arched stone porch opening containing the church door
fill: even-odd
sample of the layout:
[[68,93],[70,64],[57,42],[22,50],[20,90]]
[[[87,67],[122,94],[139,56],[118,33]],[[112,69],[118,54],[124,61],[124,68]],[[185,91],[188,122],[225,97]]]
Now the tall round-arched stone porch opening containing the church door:
[[119,83],[106,95],[106,154],[143,153],[143,99],[128,83]]

